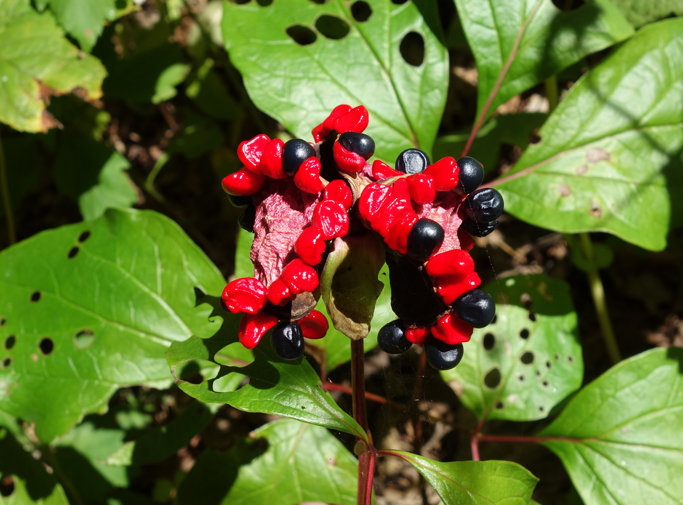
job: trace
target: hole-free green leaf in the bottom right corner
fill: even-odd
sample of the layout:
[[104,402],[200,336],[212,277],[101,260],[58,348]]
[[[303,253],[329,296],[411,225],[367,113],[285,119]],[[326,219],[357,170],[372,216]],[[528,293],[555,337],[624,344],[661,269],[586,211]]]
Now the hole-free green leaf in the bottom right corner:
[[584,387],[539,436],[586,505],[683,503],[683,350],[653,349]]

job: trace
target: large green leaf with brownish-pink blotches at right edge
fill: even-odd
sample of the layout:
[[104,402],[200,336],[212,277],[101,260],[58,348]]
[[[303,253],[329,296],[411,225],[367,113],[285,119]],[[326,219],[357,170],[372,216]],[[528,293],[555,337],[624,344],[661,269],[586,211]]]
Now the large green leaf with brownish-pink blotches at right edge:
[[647,25],[572,87],[542,140],[494,181],[507,212],[551,230],[665,247],[683,215],[681,31],[681,18]]

